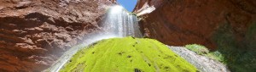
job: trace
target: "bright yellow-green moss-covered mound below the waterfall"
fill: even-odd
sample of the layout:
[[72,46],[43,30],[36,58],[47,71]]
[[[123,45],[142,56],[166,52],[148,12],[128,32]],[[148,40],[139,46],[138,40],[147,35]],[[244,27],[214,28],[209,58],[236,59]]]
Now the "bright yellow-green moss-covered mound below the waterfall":
[[196,72],[164,44],[143,38],[112,38],[76,53],[61,72]]

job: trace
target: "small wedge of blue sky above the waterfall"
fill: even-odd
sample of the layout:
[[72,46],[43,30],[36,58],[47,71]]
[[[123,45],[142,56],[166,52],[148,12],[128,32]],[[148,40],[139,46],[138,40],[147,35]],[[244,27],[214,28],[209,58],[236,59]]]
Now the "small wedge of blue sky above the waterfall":
[[133,8],[135,8],[137,4],[137,0],[117,0],[117,1],[130,12],[132,12]]

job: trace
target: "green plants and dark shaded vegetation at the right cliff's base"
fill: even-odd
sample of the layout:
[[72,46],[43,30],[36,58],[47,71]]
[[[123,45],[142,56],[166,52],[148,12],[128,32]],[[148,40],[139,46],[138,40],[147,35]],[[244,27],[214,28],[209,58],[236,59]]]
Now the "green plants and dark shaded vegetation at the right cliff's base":
[[234,30],[229,23],[220,25],[212,36],[218,49],[209,52],[206,47],[190,44],[189,50],[226,64],[232,72],[254,72],[256,70],[256,23],[248,25],[244,39],[236,40]]

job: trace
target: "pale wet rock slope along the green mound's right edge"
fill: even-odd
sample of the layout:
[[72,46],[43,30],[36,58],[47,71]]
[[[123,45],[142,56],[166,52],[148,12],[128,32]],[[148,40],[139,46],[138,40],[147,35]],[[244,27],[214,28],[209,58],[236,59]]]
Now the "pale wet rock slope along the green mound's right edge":
[[177,53],[182,58],[185,58],[190,64],[193,64],[201,72],[230,72],[228,67],[215,61],[211,58],[198,55],[192,51],[189,51],[185,47],[169,47],[172,52]]

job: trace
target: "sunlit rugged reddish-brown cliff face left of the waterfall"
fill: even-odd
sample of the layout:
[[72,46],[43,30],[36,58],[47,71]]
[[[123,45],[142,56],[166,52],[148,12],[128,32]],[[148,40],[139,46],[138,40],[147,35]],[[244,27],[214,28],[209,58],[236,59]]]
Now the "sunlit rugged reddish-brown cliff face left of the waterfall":
[[0,71],[40,71],[99,30],[115,0],[1,0]]

